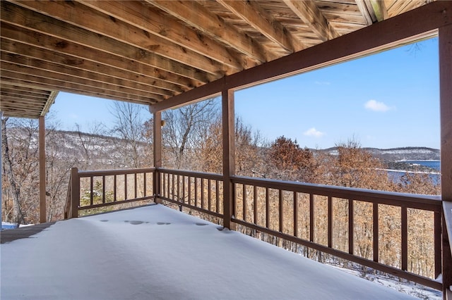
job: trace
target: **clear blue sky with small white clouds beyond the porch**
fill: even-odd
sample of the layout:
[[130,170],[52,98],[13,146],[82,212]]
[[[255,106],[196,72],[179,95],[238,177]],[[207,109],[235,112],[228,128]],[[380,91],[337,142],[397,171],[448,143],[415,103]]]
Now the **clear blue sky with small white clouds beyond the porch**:
[[[437,39],[237,91],[235,110],[272,141],[328,148],[355,138],[382,149],[439,149]],[[60,93],[51,108],[66,130],[111,126],[111,101]],[[150,113],[143,108],[143,116]]]

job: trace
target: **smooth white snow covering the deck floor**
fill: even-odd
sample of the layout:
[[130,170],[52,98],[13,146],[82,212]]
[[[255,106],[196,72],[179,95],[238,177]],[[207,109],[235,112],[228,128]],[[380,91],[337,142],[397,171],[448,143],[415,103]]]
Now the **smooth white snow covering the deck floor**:
[[1,299],[412,299],[162,205],[1,244]]

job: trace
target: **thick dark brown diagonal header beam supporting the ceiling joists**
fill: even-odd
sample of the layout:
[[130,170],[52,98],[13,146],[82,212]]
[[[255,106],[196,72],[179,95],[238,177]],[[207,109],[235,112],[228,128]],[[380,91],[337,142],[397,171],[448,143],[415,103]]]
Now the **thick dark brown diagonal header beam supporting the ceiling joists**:
[[417,39],[433,37],[438,27],[450,24],[452,24],[452,1],[435,1],[364,27],[362,30],[191,89],[184,94],[154,104],[152,110],[162,111],[216,94],[224,89],[258,85],[391,49]]

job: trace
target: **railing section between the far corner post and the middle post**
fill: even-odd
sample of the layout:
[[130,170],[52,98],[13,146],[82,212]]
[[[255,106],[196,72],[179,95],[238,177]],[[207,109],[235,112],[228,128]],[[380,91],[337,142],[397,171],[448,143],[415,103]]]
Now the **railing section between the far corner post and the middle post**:
[[222,214],[222,175],[159,168],[160,199],[207,213]]

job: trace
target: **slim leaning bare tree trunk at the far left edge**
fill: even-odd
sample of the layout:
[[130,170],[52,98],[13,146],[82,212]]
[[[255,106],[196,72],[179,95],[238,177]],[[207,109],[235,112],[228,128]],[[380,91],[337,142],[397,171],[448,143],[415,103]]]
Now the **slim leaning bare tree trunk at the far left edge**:
[[8,135],[6,134],[6,121],[8,118],[1,119],[1,144],[3,145],[4,170],[6,178],[11,185],[11,193],[13,194],[13,223],[20,225],[24,223],[24,216],[20,210],[20,188],[16,185],[16,179],[13,173],[13,163],[9,156]]

